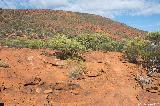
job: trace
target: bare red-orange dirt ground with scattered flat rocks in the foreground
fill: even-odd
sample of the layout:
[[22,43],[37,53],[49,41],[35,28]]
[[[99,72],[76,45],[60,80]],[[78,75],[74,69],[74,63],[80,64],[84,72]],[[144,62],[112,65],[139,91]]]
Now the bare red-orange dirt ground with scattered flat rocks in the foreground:
[[[135,76],[145,70],[125,61],[121,53],[87,52],[82,64],[56,59],[53,53],[1,48],[0,59],[10,67],[0,67],[0,102],[6,106],[160,106],[160,77],[154,77],[155,92],[142,89]],[[69,73],[80,65],[86,67],[83,75],[70,78]]]

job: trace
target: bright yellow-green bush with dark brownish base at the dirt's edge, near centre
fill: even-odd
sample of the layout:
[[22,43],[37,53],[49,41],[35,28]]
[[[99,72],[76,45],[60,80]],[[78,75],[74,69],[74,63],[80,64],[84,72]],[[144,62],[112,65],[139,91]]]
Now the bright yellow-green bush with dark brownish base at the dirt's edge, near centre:
[[58,57],[67,59],[78,55],[78,52],[86,50],[85,46],[75,39],[69,39],[67,36],[58,35],[48,41],[47,46],[52,49],[60,50]]

